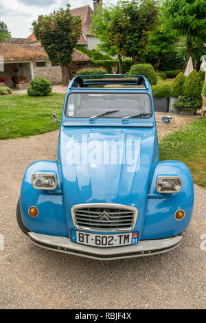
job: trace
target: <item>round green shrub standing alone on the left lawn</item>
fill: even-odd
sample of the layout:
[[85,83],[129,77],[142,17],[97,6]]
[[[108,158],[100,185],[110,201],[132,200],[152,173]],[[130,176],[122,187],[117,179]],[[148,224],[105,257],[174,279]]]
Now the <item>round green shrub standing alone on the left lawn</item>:
[[51,85],[51,82],[45,78],[34,78],[31,81],[31,87],[27,88],[27,93],[29,96],[49,96],[52,92]]

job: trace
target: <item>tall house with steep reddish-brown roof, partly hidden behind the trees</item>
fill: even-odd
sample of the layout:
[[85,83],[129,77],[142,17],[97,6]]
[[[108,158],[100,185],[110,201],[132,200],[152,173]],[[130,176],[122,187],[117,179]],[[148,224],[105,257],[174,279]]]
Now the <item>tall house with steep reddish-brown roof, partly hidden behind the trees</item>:
[[[89,5],[84,5],[84,7],[71,9],[71,14],[73,16],[78,16],[80,14],[82,18],[82,33],[80,35],[80,39],[77,45],[82,45],[89,50],[95,49],[97,45],[100,43],[98,38],[91,34],[91,14],[95,13],[96,8],[101,5],[100,0],[93,0],[93,9]],[[29,41],[36,41],[36,37],[34,34],[30,34],[27,37]]]

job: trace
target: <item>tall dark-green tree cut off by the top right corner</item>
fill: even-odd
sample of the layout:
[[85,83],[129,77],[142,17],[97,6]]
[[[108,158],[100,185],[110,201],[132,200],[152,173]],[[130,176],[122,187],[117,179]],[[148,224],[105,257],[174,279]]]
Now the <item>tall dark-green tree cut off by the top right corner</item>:
[[165,29],[174,36],[187,38],[187,54],[183,72],[192,54],[192,47],[206,42],[205,0],[163,0]]

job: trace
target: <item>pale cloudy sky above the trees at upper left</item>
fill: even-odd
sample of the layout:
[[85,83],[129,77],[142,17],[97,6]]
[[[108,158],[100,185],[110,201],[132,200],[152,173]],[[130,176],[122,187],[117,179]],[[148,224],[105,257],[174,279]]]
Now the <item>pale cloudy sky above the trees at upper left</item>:
[[[117,3],[117,0],[105,2]],[[39,14],[50,14],[65,8],[67,3],[71,9],[88,4],[93,9],[93,0],[0,0],[0,21],[6,23],[12,37],[26,38],[32,33],[32,21]]]

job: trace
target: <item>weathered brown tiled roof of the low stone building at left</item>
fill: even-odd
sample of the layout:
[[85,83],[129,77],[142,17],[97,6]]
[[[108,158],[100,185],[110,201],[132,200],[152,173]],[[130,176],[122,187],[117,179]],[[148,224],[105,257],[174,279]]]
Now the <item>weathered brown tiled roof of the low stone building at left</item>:
[[[5,62],[16,62],[22,60],[45,60],[48,55],[45,49],[41,47],[40,43],[27,44],[0,44],[0,55],[3,56]],[[73,51],[73,62],[89,61],[89,56],[79,52],[77,49]]]

